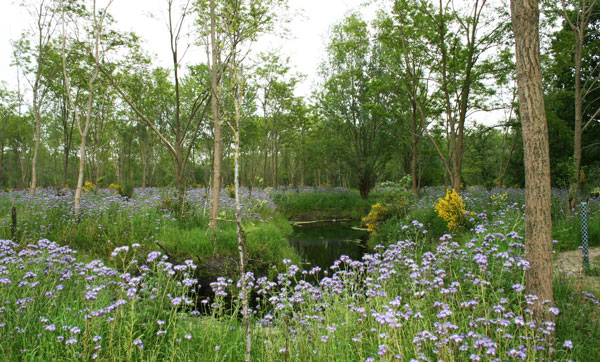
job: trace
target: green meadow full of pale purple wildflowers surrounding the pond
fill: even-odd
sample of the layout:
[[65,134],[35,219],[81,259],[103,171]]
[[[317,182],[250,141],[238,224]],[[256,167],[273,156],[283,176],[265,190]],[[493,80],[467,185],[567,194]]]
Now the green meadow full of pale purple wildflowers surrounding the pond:
[[[255,361],[600,360],[599,291],[579,275],[557,274],[548,306],[555,323],[532,319],[523,190],[467,190],[468,213],[453,230],[435,210],[440,188],[419,199],[382,188],[367,206],[344,190],[243,195]],[[2,360],[243,359],[235,229],[221,222],[208,231],[205,190],[188,191],[183,211],[172,191],[159,189],[131,198],[88,192],[79,217],[71,200],[69,190],[0,194]],[[324,202],[327,214],[318,212]],[[226,192],[222,205],[223,219],[232,218]],[[579,242],[578,211],[565,205],[556,190],[556,252]],[[356,217],[349,209],[372,224],[371,252],[303,270],[287,244],[287,218],[311,210]],[[592,199],[592,245],[600,245],[599,220]]]

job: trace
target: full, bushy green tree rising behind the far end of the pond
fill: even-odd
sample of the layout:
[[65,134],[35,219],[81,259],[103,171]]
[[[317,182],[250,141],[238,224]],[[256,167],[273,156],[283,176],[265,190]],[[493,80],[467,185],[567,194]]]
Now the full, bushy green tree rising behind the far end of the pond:
[[352,170],[353,183],[366,199],[391,145],[390,97],[379,82],[378,50],[357,14],[334,26],[327,50],[319,110],[331,132],[332,153]]

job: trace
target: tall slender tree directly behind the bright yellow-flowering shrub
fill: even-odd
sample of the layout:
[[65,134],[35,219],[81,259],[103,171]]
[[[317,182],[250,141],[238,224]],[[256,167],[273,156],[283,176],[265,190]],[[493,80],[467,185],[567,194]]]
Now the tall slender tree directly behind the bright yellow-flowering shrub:
[[[452,5],[452,11],[449,5]],[[457,11],[456,6],[466,6],[466,13]],[[440,57],[436,71],[449,130],[449,155],[444,163],[451,168],[449,176],[452,187],[457,191],[460,191],[462,182],[465,122],[473,109],[482,107],[481,100],[473,98],[477,92],[488,92],[489,88],[482,84],[482,80],[494,72],[493,63],[485,62],[485,54],[502,43],[508,23],[503,22],[501,14],[492,12],[491,7],[487,0],[474,0],[462,5],[454,1],[444,5],[439,0],[438,31],[434,39]],[[451,28],[451,21],[455,29]],[[442,154],[440,156],[444,158]]]

